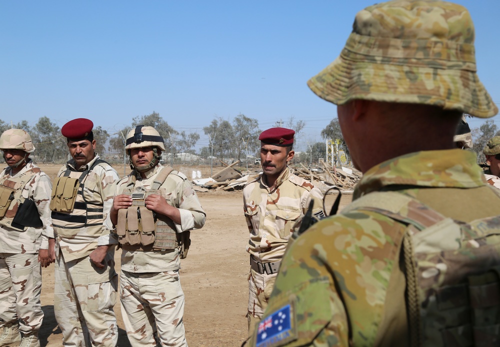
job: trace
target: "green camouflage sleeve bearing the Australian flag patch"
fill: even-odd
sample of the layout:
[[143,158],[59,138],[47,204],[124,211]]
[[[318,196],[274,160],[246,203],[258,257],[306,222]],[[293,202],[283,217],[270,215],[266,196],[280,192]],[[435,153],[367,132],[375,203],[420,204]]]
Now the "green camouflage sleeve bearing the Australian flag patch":
[[288,248],[249,345],[347,346],[348,321],[354,340],[374,345],[403,233],[370,212],[314,224]]

